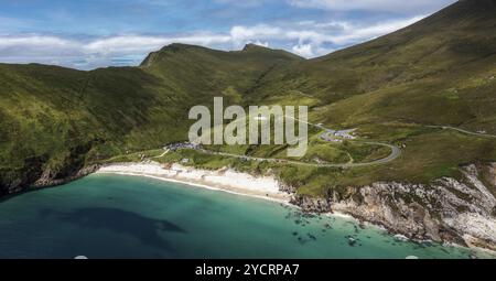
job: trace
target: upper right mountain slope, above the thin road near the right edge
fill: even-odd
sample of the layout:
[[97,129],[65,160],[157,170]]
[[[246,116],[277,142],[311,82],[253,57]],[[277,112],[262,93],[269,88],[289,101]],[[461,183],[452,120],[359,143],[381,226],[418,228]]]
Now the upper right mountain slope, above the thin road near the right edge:
[[323,118],[334,123],[485,122],[495,132],[495,14],[496,1],[459,1],[395,33],[268,77],[259,95],[284,87],[317,97],[328,106]]

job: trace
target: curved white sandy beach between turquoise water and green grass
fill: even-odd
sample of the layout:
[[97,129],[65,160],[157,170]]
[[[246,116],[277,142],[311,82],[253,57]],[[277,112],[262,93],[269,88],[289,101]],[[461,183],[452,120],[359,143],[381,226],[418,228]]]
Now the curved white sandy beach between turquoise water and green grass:
[[97,173],[148,176],[281,203],[288,203],[291,198],[290,194],[279,191],[279,181],[272,176],[252,176],[230,169],[209,171],[149,161],[110,164],[100,167]]

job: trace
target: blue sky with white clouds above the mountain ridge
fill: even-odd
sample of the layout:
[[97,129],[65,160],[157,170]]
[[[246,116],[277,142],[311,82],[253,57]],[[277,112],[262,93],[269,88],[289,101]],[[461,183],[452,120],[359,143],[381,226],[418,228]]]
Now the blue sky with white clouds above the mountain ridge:
[[247,43],[311,58],[390,33],[455,0],[0,0],[0,62],[139,65],[171,43]]

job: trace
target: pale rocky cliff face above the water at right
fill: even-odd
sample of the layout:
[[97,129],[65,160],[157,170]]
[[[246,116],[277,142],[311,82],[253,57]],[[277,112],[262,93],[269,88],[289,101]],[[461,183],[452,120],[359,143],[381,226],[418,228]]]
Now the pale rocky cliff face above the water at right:
[[375,183],[327,198],[295,196],[310,212],[343,212],[414,239],[451,241],[496,250],[496,164],[461,167],[459,180],[429,185]]

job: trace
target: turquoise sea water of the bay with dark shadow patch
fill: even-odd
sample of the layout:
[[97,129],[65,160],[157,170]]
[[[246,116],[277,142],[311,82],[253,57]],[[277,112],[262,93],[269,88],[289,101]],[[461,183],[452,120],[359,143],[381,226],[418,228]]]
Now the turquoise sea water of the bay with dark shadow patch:
[[488,258],[355,220],[147,177],[98,174],[0,203],[0,258]]

